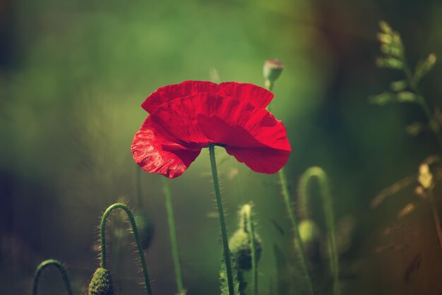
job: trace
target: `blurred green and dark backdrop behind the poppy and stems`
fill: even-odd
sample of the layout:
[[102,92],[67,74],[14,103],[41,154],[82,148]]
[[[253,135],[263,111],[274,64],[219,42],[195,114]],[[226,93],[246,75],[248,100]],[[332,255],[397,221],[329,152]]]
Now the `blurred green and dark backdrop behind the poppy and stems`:
[[[382,188],[417,173],[427,155],[439,152],[430,133],[405,132],[407,124],[424,121],[419,108],[367,102],[402,78],[375,66],[381,19],[401,32],[412,64],[429,52],[442,56],[440,1],[1,0],[0,293],[30,294],[36,265],[57,258],[80,294],[97,267],[104,208],[119,198],[138,205],[130,145],[146,116],[140,107],[145,97],[163,85],[209,80],[214,68],[223,81],[263,85],[263,61],[278,58],[285,70],[272,111],[292,145],[292,194],[301,172],[320,165],[332,181],[337,218],[355,220],[350,249],[341,257],[345,294],[441,294],[434,222],[414,187],[376,210],[369,205]],[[441,78],[439,63],[422,83],[432,105],[441,103]],[[222,148],[217,155],[232,234],[244,200],[229,178],[232,160]],[[155,222],[146,257],[158,295],[175,291],[160,177],[142,175],[144,206]],[[204,151],[170,181],[189,294],[219,290],[220,230],[211,217],[210,177]],[[303,294],[302,288],[277,285],[275,245],[287,256],[293,251],[277,177],[244,165],[239,177],[245,201],[255,204],[263,240],[260,294]],[[398,210],[414,201],[415,212],[398,220]],[[320,203],[314,204],[324,228]],[[419,238],[402,231],[383,236],[390,226],[417,229]],[[143,294],[128,241],[112,271],[119,294]],[[391,243],[407,246],[374,251]],[[405,279],[417,255],[419,266]],[[42,294],[61,290],[58,274],[48,271]]]

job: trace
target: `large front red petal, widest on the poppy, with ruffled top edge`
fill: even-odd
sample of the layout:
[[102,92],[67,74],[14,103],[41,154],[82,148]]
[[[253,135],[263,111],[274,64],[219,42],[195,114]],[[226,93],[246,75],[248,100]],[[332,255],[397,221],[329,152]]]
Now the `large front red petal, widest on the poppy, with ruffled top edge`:
[[192,148],[225,147],[253,171],[272,174],[287,162],[285,127],[267,110],[235,97],[203,93],[162,104],[148,121],[162,137]]

